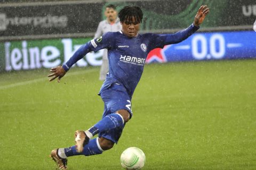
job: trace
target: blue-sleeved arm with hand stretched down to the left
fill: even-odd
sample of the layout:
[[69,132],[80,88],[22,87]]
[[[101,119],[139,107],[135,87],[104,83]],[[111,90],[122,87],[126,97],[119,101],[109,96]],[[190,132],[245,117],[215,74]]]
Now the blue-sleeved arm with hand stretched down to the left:
[[49,81],[58,78],[58,82],[60,82],[60,79],[66,74],[71,66],[74,65],[78,60],[81,60],[87,53],[92,51],[97,52],[103,48],[111,48],[111,42],[113,41],[112,34],[113,32],[107,32],[104,35],[92,39],[91,41],[81,46],[66,63],[64,63],[62,66],[57,66],[50,70],[51,74],[49,74],[48,77],[52,78],[49,79]]

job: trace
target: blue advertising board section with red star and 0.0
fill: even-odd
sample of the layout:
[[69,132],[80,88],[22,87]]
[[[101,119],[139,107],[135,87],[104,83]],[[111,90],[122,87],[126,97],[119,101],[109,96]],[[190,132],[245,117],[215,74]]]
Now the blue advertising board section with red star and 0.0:
[[195,33],[179,44],[157,48],[147,63],[256,58],[256,32]]

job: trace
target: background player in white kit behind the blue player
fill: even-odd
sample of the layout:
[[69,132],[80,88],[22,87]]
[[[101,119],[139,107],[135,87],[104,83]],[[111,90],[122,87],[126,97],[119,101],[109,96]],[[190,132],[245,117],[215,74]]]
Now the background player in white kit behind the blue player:
[[[99,23],[97,31],[95,32],[94,38],[98,38],[106,32],[116,32],[120,31],[122,26],[117,17],[116,7],[113,4],[109,4],[105,9],[106,20]],[[102,64],[100,67],[100,80],[106,79],[106,74],[108,73],[108,50],[103,50]]]

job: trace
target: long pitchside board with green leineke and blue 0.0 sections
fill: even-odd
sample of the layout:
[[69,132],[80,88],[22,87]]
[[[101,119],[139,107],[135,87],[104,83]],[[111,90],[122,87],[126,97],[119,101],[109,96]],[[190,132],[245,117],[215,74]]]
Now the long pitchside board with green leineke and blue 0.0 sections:
[[[65,63],[91,38],[7,41],[0,43],[0,72],[51,68]],[[102,52],[89,53],[77,66],[101,65]],[[201,32],[179,44],[152,50],[146,63],[256,58],[256,32]]]

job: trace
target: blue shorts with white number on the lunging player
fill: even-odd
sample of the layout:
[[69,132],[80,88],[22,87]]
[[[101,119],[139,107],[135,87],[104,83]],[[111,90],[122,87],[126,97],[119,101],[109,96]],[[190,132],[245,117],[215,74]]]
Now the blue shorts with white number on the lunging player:
[[[108,88],[100,91],[99,95],[104,102],[102,118],[121,109],[128,111],[130,113],[130,118],[132,117],[131,98],[121,84],[113,83]],[[99,137],[103,137],[117,143],[121,137],[123,128],[124,126],[111,129],[107,132],[100,132]]]

